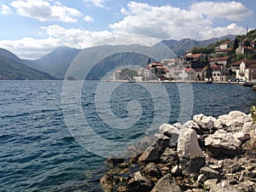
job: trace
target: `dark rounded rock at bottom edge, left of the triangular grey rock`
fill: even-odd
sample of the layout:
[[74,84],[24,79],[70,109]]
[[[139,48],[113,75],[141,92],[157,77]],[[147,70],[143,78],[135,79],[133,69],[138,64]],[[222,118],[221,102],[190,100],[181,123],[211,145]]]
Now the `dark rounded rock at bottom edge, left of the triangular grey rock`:
[[135,172],[131,177],[128,177],[128,192],[149,192],[153,188],[154,183],[148,177],[143,176],[141,172]]

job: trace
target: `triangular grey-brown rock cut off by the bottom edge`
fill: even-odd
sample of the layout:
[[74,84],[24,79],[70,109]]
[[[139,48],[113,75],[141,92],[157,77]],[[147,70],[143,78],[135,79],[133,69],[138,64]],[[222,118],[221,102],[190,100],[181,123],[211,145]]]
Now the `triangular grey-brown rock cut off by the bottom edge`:
[[160,178],[160,180],[155,184],[154,189],[151,192],[182,192],[182,189],[177,185],[177,183],[172,179],[172,175],[169,173],[165,177]]

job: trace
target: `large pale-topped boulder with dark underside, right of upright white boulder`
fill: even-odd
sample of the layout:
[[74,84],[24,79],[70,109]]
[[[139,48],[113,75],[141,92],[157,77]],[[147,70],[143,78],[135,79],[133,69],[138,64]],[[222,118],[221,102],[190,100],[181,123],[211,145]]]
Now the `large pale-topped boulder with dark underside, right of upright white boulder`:
[[212,157],[236,156],[241,153],[241,141],[224,130],[208,136],[205,145]]

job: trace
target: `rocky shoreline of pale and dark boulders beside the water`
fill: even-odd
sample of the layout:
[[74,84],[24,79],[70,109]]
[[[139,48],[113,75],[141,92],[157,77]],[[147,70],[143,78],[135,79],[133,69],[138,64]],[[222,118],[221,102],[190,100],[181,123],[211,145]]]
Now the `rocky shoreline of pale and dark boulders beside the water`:
[[218,119],[197,114],[163,124],[154,137],[107,158],[104,192],[256,191],[256,125],[232,111]]

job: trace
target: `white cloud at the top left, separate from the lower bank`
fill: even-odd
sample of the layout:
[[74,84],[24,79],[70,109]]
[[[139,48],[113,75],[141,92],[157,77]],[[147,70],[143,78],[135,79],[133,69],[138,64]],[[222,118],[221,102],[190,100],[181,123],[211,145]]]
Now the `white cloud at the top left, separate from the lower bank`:
[[44,0],[16,0],[11,5],[17,9],[19,15],[40,21],[76,22],[76,18],[82,16],[79,10],[68,8],[59,2],[51,5]]

